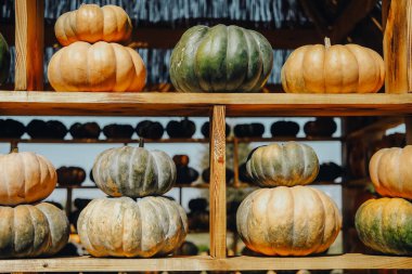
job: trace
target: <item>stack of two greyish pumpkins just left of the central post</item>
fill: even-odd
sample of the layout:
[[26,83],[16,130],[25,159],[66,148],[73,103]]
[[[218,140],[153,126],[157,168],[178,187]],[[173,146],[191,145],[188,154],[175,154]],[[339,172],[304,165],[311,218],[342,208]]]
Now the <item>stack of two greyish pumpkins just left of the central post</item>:
[[180,247],[188,217],[179,204],[158,196],[176,181],[175,162],[166,153],[142,145],[107,149],[95,159],[93,178],[112,197],[93,199],[77,221],[92,256],[147,258]]

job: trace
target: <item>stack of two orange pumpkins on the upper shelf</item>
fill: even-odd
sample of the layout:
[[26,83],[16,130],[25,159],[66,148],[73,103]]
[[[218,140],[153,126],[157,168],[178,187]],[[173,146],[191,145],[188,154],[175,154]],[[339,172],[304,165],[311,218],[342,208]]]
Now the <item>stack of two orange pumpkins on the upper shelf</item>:
[[65,48],[51,58],[48,77],[56,91],[141,91],[146,69],[139,53],[119,43],[132,25],[120,6],[82,4],[61,15],[54,26]]

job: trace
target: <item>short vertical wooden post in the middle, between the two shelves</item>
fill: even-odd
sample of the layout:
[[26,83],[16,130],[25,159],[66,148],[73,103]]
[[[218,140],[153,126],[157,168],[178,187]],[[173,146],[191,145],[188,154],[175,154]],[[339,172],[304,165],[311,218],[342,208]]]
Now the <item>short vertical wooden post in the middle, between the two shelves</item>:
[[214,106],[210,117],[210,256],[226,257],[226,132],[224,106]]

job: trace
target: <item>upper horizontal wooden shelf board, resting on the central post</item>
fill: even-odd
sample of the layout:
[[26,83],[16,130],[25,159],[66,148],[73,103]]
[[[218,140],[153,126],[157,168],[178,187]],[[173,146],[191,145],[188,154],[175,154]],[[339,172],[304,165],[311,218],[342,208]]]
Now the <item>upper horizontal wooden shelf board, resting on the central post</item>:
[[226,105],[227,116],[399,116],[412,114],[412,94],[0,92],[0,115],[204,116]]

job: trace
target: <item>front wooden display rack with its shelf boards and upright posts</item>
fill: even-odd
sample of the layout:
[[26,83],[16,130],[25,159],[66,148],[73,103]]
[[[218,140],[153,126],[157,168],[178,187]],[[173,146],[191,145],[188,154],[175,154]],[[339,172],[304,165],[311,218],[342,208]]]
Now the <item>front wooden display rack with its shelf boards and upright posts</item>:
[[[398,5],[411,1],[392,1]],[[388,6],[384,1],[384,6]],[[395,4],[394,6],[397,6]],[[401,6],[403,9],[404,6]],[[395,9],[395,8],[394,8]],[[392,13],[399,12],[391,10]],[[411,6],[409,9],[412,9]],[[412,114],[411,87],[394,87],[397,79],[412,82],[412,68],[387,69],[387,89],[404,94],[188,94],[188,93],[70,93],[41,92],[43,89],[43,1],[15,1],[16,75],[15,90],[1,91],[1,115],[50,116],[208,116],[210,119],[210,256],[153,259],[48,258],[0,260],[0,272],[86,272],[86,271],[243,271],[243,270],[330,270],[412,269],[412,258],[346,253],[305,258],[226,258],[226,133],[227,116],[399,116]],[[387,11],[384,11],[388,14]],[[409,17],[408,17],[409,16]],[[412,25],[411,14],[397,16]],[[394,17],[394,15],[391,16]],[[391,18],[389,15],[389,18]],[[386,22],[386,19],[384,19]],[[389,24],[390,23],[390,24]],[[391,29],[385,30],[387,68],[397,63],[390,51]],[[412,28],[407,29],[412,29]],[[403,29],[403,28],[402,28]],[[399,30],[399,29],[398,29]],[[398,31],[397,34],[402,34]],[[408,36],[409,38],[411,36]],[[412,44],[397,40],[397,47]],[[409,49],[410,49],[409,48]],[[399,47],[402,49],[402,47]],[[410,54],[412,55],[412,54]],[[409,56],[411,57],[411,56]],[[389,61],[390,64],[389,64]],[[409,60],[410,64],[412,61]],[[407,75],[407,77],[404,77]],[[402,78],[403,77],[403,78]],[[37,91],[37,92],[33,92]],[[409,129],[409,125],[407,126]]]

